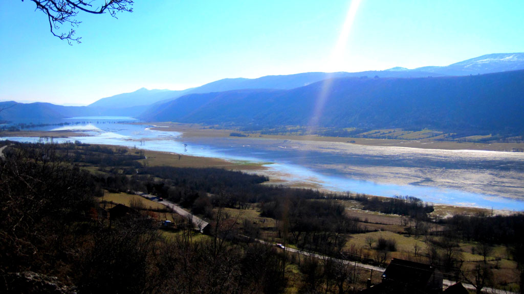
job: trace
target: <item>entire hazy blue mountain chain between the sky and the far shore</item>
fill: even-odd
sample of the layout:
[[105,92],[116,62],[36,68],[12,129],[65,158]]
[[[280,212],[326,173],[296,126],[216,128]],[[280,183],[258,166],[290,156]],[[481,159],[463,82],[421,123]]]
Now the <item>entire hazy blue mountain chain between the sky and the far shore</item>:
[[[14,106],[0,112],[0,118],[37,123],[111,115],[147,121],[304,126],[311,123],[320,92],[329,85],[319,126],[522,134],[522,70],[524,53],[487,54],[413,70],[226,78],[183,91],[142,88],[86,107],[3,102],[0,109]],[[322,82],[329,79],[332,82]]]

